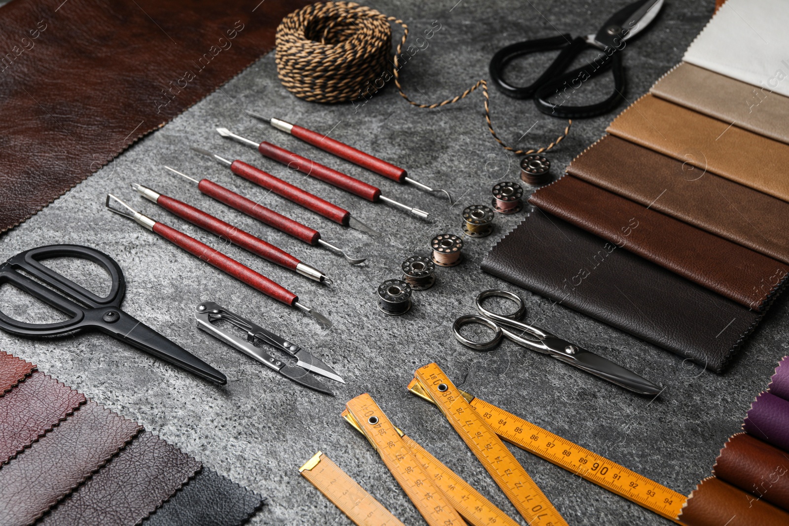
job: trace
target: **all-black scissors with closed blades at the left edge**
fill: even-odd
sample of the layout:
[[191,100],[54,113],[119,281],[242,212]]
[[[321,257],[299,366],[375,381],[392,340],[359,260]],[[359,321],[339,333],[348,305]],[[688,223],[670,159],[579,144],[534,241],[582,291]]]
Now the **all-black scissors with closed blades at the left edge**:
[[[42,259],[56,257],[88,259],[98,263],[112,278],[110,293],[107,297],[96,296],[41,263]],[[28,278],[20,270],[49,287]],[[0,285],[4,283],[13,285],[70,316],[69,319],[57,323],[25,323],[9,318],[0,311],[0,329],[11,334],[55,336],[77,329],[99,329],[211,382],[227,382],[225,375],[214,367],[121,310],[121,301],[126,291],[123,271],[114,259],[94,248],[77,244],[51,244],[21,252],[0,265]]]

